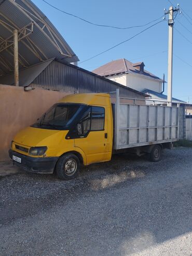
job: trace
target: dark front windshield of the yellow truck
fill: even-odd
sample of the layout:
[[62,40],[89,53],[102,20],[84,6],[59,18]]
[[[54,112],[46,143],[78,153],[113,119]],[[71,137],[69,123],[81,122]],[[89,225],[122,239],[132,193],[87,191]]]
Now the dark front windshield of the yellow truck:
[[80,104],[55,104],[32,127],[66,128],[72,123],[82,107]]

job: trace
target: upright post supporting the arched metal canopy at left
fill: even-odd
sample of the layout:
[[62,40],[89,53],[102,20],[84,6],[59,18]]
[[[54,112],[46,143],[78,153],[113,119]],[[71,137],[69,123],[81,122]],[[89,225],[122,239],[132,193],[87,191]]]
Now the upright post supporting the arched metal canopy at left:
[[15,86],[19,86],[19,61],[18,61],[18,30],[13,30],[13,46],[14,46],[14,78]]

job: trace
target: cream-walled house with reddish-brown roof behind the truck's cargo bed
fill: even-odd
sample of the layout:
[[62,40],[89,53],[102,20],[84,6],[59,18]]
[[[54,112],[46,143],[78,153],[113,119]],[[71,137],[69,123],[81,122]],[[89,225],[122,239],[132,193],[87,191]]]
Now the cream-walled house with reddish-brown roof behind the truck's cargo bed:
[[150,89],[161,93],[163,80],[145,70],[144,66],[143,62],[131,63],[122,58],[113,60],[92,72],[140,92]]

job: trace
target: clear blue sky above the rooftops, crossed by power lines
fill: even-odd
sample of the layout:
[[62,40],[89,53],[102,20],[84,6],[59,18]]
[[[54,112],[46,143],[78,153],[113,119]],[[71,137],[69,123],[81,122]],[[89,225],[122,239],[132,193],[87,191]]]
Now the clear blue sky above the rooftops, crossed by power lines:
[[[133,63],[144,62],[145,69],[167,80],[168,70],[168,16],[167,20],[135,36],[112,50],[92,58],[114,45],[162,20],[164,8],[177,6],[176,0],[46,0],[67,13],[93,23],[132,29],[114,29],[93,26],[68,16],[42,0],[32,0],[61,33],[79,58],[78,66],[92,71],[112,60],[126,58]],[[182,14],[177,14],[173,36],[173,97],[192,103],[192,1],[179,2]],[[160,18],[161,17],[161,18]],[[80,63],[83,62],[83,63]],[[167,94],[167,86],[165,88]]]

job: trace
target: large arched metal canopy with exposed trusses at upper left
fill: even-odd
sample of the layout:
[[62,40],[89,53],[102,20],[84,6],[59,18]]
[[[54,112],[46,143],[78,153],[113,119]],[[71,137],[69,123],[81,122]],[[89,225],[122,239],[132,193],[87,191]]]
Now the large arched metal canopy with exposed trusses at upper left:
[[13,30],[18,30],[19,68],[57,57],[79,59],[48,18],[30,0],[0,0],[0,76],[13,72]]

